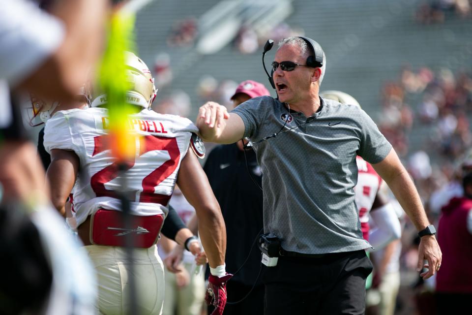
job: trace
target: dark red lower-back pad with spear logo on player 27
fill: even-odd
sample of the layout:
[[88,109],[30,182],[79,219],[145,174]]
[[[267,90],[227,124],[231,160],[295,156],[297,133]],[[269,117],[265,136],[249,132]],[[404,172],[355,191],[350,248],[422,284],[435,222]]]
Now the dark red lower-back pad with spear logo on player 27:
[[125,246],[125,236],[133,236],[137,248],[149,248],[157,243],[164,222],[164,215],[134,216],[130,228],[123,226],[122,213],[115,210],[98,209],[91,216],[90,243],[94,245]]

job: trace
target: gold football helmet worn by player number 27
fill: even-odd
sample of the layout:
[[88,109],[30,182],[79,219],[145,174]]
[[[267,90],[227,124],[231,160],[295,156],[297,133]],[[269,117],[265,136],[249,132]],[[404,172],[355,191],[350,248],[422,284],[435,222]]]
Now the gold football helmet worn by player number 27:
[[[154,78],[148,66],[139,57],[131,52],[124,52],[126,64],[126,80],[130,84],[126,92],[126,102],[150,108],[157,89],[154,86]],[[93,89],[90,93],[91,107],[104,105],[108,102],[108,97],[101,89]]]

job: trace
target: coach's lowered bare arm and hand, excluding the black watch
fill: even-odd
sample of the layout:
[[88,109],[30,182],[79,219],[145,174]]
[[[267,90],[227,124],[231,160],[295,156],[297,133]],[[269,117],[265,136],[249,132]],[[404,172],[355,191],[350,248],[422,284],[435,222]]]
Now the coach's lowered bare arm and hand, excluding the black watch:
[[[372,164],[372,166],[392,190],[416,229],[421,231],[427,227],[430,223],[426,217],[419,194],[395,150],[391,149],[383,161]],[[423,267],[423,259],[428,260],[428,265],[425,267],[429,271],[422,273],[421,276],[427,279],[435,274],[438,266],[441,266],[442,260],[441,249],[434,235],[421,237],[418,252],[418,271]]]

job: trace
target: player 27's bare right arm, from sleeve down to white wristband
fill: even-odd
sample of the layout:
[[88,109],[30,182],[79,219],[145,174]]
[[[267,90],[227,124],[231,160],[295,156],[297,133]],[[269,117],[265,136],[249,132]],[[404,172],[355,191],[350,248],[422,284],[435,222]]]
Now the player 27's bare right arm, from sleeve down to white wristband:
[[226,252],[226,226],[207,176],[192,150],[188,150],[180,163],[177,184],[185,198],[195,208],[203,247],[212,268],[224,266]]

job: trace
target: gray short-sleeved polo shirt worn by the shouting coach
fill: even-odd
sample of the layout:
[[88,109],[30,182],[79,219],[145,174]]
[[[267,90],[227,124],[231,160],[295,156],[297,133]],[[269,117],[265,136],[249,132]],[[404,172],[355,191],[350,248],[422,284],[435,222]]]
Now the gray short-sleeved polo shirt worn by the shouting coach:
[[354,202],[355,157],[378,163],[392,146],[362,109],[322,99],[321,110],[306,123],[302,113],[289,114],[277,99],[261,96],[232,112],[242,118],[244,136],[252,142],[294,128],[254,144],[264,174],[265,232],[275,233],[292,252],[371,247],[362,238]]

